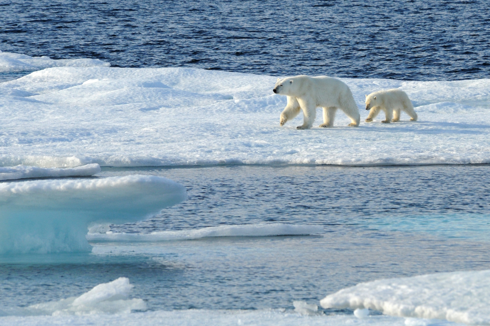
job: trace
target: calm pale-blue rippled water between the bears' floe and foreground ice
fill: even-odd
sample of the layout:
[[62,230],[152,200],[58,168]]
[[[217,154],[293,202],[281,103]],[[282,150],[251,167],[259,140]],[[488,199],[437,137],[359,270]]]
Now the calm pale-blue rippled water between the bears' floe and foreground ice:
[[78,296],[125,276],[150,309],[291,309],[361,281],[490,268],[489,165],[103,168],[99,176],[134,173],[171,178],[189,198],[113,231],[281,222],[324,233],[93,242],[90,255],[3,259],[0,307]]

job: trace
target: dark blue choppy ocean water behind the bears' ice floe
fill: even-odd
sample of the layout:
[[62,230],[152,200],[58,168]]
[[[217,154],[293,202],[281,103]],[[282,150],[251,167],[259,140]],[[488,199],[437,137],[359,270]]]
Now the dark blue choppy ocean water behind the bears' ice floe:
[[0,1],[0,50],[116,67],[490,77],[486,0]]

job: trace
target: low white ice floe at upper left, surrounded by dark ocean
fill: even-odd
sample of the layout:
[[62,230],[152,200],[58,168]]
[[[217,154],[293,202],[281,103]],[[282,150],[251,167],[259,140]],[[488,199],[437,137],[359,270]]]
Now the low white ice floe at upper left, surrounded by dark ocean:
[[30,57],[25,54],[1,52],[0,71],[35,71],[51,67],[109,67],[111,64],[99,59],[59,59]]

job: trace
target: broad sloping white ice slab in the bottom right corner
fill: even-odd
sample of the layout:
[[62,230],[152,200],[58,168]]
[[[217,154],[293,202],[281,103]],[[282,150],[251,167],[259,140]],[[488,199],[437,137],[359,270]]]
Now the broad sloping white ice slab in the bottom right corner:
[[[330,294],[320,304],[323,308],[369,308],[399,317],[490,325],[489,279],[490,270],[380,279]],[[421,322],[409,320],[407,325]]]

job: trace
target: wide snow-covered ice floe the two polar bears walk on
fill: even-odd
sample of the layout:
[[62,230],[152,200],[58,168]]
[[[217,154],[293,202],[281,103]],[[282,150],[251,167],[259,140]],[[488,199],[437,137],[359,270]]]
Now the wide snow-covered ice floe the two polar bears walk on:
[[[490,79],[346,79],[361,112],[348,128],[284,127],[276,76],[191,68],[55,67],[0,84],[0,165],[490,162]],[[400,88],[418,121],[363,122],[364,95]],[[13,155],[15,148],[15,155]]]

